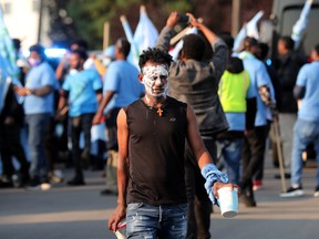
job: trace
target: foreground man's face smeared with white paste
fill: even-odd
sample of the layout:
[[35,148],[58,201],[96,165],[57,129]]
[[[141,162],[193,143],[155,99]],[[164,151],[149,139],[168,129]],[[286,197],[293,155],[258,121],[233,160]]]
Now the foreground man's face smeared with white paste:
[[167,65],[146,62],[141,74],[142,84],[145,85],[145,91],[153,97],[166,96],[168,82]]

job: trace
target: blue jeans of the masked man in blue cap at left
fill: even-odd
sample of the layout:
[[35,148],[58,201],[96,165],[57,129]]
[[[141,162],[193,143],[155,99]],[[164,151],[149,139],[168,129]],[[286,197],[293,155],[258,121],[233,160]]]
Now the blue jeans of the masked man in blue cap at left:
[[30,176],[48,179],[48,162],[44,155],[44,131],[51,114],[25,115],[28,124],[28,144],[31,155]]

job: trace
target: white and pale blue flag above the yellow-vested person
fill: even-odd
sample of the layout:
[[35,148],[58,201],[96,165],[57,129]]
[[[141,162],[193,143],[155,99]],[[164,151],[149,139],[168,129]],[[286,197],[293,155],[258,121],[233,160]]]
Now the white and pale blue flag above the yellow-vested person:
[[257,23],[261,19],[263,15],[264,15],[264,11],[259,11],[254,15],[254,18],[249,22],[243,25],[239,33],[235,38],[234,46],[233,46],[234,52],[238,52],[241,50],[240,49],[241,42],[246,37],[259,39]]

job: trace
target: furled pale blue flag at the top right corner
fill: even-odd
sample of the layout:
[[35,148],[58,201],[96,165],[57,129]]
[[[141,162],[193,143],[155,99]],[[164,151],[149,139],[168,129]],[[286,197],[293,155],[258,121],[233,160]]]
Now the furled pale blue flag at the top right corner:
[[295,23],[295,25],[292,27],[291,39],[295,41],[295,50],[299,48],[303,33],[306,31],[311,4],[312,4],[312,0],[307,0],[305,2],[300,17]]

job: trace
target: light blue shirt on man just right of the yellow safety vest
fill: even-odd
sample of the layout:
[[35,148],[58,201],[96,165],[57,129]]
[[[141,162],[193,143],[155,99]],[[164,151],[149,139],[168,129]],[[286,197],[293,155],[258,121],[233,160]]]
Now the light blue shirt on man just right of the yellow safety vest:
[[270,77],[268,75],[265,64],[249,52],[241,52],[238,55],[244,63],[244,67],[248,71],[251,82],[251,87],[257,100],[257,112],[255,118],[255,126],[267,125],[268,107],[261,101],[258,89],[263,85],[268,85],[272,100],[275,98],[275,91]]

